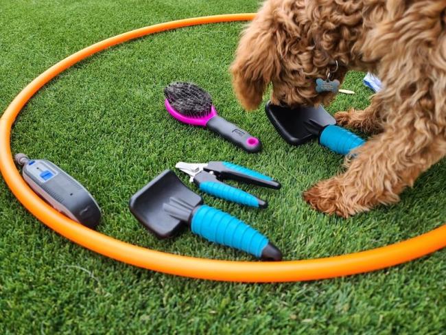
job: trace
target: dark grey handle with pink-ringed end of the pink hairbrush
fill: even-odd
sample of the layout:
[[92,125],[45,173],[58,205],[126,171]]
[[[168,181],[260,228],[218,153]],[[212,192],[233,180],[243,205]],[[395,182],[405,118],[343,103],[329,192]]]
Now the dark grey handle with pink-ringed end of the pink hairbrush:
[[261,150],[261,142],[257,137],[253,137],[249,132],[231,124],[223,117],[215,115],[207,122],[206,126],[248,152],[259,152]]

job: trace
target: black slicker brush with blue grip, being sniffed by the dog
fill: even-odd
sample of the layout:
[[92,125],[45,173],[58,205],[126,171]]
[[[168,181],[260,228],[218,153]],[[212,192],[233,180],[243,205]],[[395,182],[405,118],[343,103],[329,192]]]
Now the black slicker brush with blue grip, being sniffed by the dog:
[[316,137],[322,146],[345,155],[365,143],[353,132],[336,126],[336,120],[321,105],[287,108],[268,102],[265,111],[277,132],[293,146]]

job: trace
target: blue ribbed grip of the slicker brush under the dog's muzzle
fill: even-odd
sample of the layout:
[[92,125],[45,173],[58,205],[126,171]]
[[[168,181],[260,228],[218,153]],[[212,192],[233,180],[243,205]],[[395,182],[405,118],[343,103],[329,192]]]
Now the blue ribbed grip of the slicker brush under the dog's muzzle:
[[327,126],[322,130],[319,142],[322,146],[326,146],[338,154],[348,154],[351,150],[366,143],[364,139],[353,132],[335,125]]

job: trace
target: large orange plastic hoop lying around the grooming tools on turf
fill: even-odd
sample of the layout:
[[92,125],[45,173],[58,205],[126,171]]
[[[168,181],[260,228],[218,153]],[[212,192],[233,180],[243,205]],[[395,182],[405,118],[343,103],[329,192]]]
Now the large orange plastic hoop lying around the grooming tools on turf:
[[190,25],[250,21],[255,14],[203,16],[150,25],[86,47],[61,60],[28,84],[15,97],[0,119],[0,171],[12,193],[38,220],[64,237],[102,255],[150,270],[220,281],[272,282],[303,281],[354,275],[394,266],[422,257],[446,246],[446,224],[416,238],[360,253],[329,258],[286,262],[235,262],[163,253],[134,246],[88,229],[41,200],[27,186],[12,160],[11,128],[16,116],[43,85],[71,65],[113,45],[148,34]]

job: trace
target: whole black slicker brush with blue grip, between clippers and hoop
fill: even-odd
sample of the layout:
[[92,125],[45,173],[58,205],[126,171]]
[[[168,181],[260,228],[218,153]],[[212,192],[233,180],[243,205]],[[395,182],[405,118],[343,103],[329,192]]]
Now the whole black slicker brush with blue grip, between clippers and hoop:
[[165,170],[130,199],[130,211],[158,238],[170,238],[185,225],[202,238],[255,257],[279,261],[282,254],[268,238],[224,211],[203,204],[172,170]]

